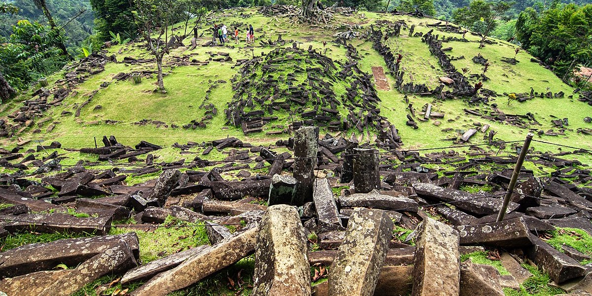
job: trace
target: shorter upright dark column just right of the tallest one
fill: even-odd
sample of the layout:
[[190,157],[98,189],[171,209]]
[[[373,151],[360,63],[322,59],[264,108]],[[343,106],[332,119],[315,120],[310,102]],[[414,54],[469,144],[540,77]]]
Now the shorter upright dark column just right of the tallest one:
[[379,156],[376,149],[353,149],[353,186],[356,193],[380,189]]

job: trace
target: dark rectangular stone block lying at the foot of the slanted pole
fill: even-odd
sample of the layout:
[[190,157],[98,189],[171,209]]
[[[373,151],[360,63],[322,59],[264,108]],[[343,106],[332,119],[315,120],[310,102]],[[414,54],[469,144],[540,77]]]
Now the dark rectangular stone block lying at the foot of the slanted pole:
[[461,244],[517,248],[530,245],[529,229],[522,217],[495,223],[457,227]]

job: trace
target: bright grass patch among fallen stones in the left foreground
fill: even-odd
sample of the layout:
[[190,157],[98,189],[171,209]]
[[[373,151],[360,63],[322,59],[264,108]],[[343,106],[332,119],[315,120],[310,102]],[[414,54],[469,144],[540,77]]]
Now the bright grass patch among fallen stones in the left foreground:
[[169,216],[155,231],[112,227],[109,234],[135,232],[140,240],[140,261],[147,263],[173,253],[208,243],[208,236],[202,223],[188,223]]

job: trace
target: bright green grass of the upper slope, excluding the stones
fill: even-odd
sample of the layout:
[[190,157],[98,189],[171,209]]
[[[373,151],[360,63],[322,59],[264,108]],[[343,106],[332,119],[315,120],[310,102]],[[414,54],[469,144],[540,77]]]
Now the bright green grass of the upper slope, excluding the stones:
[[[300,45],[307,48],[312,45],[314,48],[322,49],[322,41],[329,41],[327,43],[327,55],[334,60],[345,60],[345,49],[338,46],[332,41],[333,30],[323,29],[321,27],[310,28],[304,25],[292,24],[284,18],[268,18],[262,15],[255,14],[254,10],[247,10],[247,13],[253,14],[249,18],[241,18],[236,11],[229,11],[226,14],[215,15],[216,22],[225,22],[226,24],[240,23],[240,27],[244,24],[253,24],[255,28],[261,28],[262,32],[256,32],[256,38],[263,40],[275,40],[277,34],[282,34],[284,40],[294,39],[302,42]],[[343,17],[337,15],[334,24],[349,23],[361,24],[365,28],[372,24],[375,20],[390,20],[405,21],[408,25],[416,24],[416,32],[429,30],[425,27],[426,24],[434,22],[429,19],[417,19],[404,16],[392,16],[384,14],[375,14],[371,12],[359,12],[353,17]],[[286,28],[289,28],[287,30]],[[209,38],[207,25],[202,24],[202,31],[205,33],[204,37],[198,40],[198,44],[203,44]],[[440,36],[456,36],[459,34],[438,32]],[[406,69],[406,82],[410,79],[409,75],[413,76],[414,82],[425,82],[430,87],[436,86],[437,77],[443,75],[442,70],[437,65],[436,60],[429,55],[426,44],[420,41],[418,37],[406,37],[406,31],[402,31],[400,38],[391,38],[389,45],[394,52],[400,50],[403,53],[403,67]],[[476,41],[478,37],[467,34],[469,40]],[[536,63],[529,62],[530,56],[525,52],[520,52],[517,59],[520,61],[518,65],[511,66],[500,62],[501,57],[512,57],[514,54],[514,46],[504,41],[499,41],[499,44],[488,45],[484,49],[478,49],[478,43],[461,43],[451,42],[445,43],[445,46],[452,46],[452,56],[464,55],[466,59],[456,60],[453,63],[460,69],[461,67],[468,67],[469,73],[480,73],[482,66],[477,65],[471,61],[471,57],[478,52],[490,59],[490,70],[487,76],[491,81],[485,82],[485,88],[493,89],[501,94],[503,92],[529,92],[530,86],[535,88],[535,91],[542,92],[549,89],[552,92],[564,91],[567,95],[572,94],[572,89],[562,83],[549,70],[540,67]],[[189,40],[185,40],[189,43]],[[371,48],[371,43],[362,40],[353,40],[353,44],[358,46],[363,59],[360,62],[361,69],[366,72],[371,72],[372,66],[385,67],[384,60],[379,56],[375,50]],[[198,46],[195,50],[189,51],[184,48],[173,50],[172,55],[197,53],[194,58],[198,60],[207,60],[210,55],[208,52],[227,52],[231,54],[234,60],[249,57],[251,50],[245,48],[244,41],[235,46],[233,42],[229,43],[230,47],[201,47]],[[288,44],[287,44],[288,46]],[[271,47],[256,47],[255,54],[261,52],[269,52]],[[120,52],[121,53],[118,53]],[[130,46],[114,46],[110,49],[110,53],[118,53],[118,58],[121,60],[124,56],[132,57],[149,57],[143,50],[137,47]],[[119,72],[131,72],[136,69],[150,69],[153,65],[141,66],[127,66],[124,64],[108,63],[105,72],[100,73],[82,83],[78,86],[79,94],[74,97],[65,99],[64,104],[60,107],[52,108],[48,114],[60,124],[52,131],[52,133],[41,134],[22,134],[23,139],[44,139],[59,140],[65,147],[89,147],[94,145],[92,136],[102,136],[113,134],[124,144],[135,144],[140,139],[149,140],[154,143],[170,145],[175,141],[184,143],[187,140],[202,141],[219,138],[221,136],[240,136],[246,138],[247,141],[253,142],[274,142],[275,137],[267,137],[265,134],[254,134],[250,137],[242,136],[240,130],[236,128],[224,127],[223,110],[226,107],[226,102],[229,101],[233,95],[231,89],[230,79],[234,76],[237,69],[232,69],[234,62],[211,62],[207,66],[186,66],[186,67],[167,67],[168,75],[165,77],[165,86],[168,89],[168,94],[162,95],[152,92],[155,78],[144,79],[143,83],[134,85],[131,82],[112,82],[110,86],[99,91],[95,95],[91,104],[83,108],[81,116],[76,118],[73,115],[61,117],[60,113],[64,110],[74,111],[73,108],[76,103],[80,104],[86,100],[85,94],[88,94],[105,81],[111,81],[111,77]],[[432,69],[430,66],[434,66]],[[55,75],[53,80],[57,79]],[[387,74],[387,78],[392,85],[394,80]],[[182,128],[156,128],[153,125],[135,126],[133,122],[142,119],[151,119],[163,121],[166,124],[176,124],[182,126],[189,123],[191,120],[200,120],[204,110],[198,108],[198,105],[204,101],[205,91],[210,87],[209,80],[216,81],[223,79],[227,83],[221,83],[214,89],[210,95],[210,101],[218,108],[218,115],[214,120],[208,124],[208,128],[197,130],[184,130]],[[452,130],[466,130],[472,126],[474,122],[487,123],[498,132],[498,138],[503,140],[521,140],[525,137],[526,131],[517,127],[511,127],[506,124],[492,123],[482,118],[476,118],[472,115],[467,115],[462,111],[462,108],[468,107],[465,102],[459,100],[437,101],[433,98],[420,98],[418,96],[410,95],[410,102],[413,103],[416,110],[419,110],[422,105],[431,103],[434,105],[435,111],[445,112],[446,117],[442,124],[438,127],[434,126],[432,122],[419,123],[420,128],[413,130],[404,125],[407,111],[407,104],[404,102],[403,95],[398,91],[391,89],[390,91],[379,91],[379,96],[382,99],[382,114],[386,115],[391,123],[394,123],[400,130],[406,147],[440,147],[449,146],[449,141],[439,141],[451,136],[455,136],[454,131],[445,133],[444,128],[452,128]],[[506,105],[505,96],[497,98],[499,108],[508,114],[526,114],[526,112],[533,112],[535,117],[543,125],[539,127],[542,130],[548,130],[551,127],[551,117],[570,118],[570,130],[567,131],[565,137],[551,137],[543,136],[542,139],[554,141],[561,144],[570,144],[581,147],[592,147],[592,142],[581,134],[575,133],[575,128],[585,127],[583,117],[589,115],[590,107],[573,99],[540,99],[536,98],[525,103],[513,102],[511,105]],[[103,108],[99,111],[94,111],[96,105],[101,105]],[[16,105],[18,107],[18,104]],[[487,107],[480,107],[485,109]],[[4,114],[11,110],[7,108]],[[455,121],[449,122],[453,119]],[[101,123],[101,120],[117,120],[121,123],[108,125]],[[95,121],[99,123],[93,124]],[[91,123],[91,124],[89,124]],[[47,124],[46,124],[47,126]],[[45,128],[45,127],[44,127]],[[41,128],[44,130],[44,128]],[[429,136],[427,136],[429,135]],[[474,143],[481,143],[482,134],[478,133],[472,139]],[[536,138],[538,139],[538,138]],[[9,146],[14,143],[14,139],[7,139],[2,141],[3,144]],[[556,147],[546,146],[536,143],[536,149],[557,151]]]

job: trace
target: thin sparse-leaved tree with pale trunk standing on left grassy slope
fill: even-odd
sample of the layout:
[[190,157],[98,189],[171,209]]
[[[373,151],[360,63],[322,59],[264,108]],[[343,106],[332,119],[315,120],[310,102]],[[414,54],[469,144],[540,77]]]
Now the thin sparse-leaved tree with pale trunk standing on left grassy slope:
[[[169,26],[181,20],[181,2],[175,0],[134,1],[136,10],[132,11],[132,14],[141,36],[147,42],[150,53],[155,56],[157,85],[159,91],[164,93],[166,91],[162,79],[162,59],[173,46],[173,43],[167,41],[169,40]],[[152,34],[157,34],[157,37],[153,39]],[[172,31],[170,34],[172,36]]]

